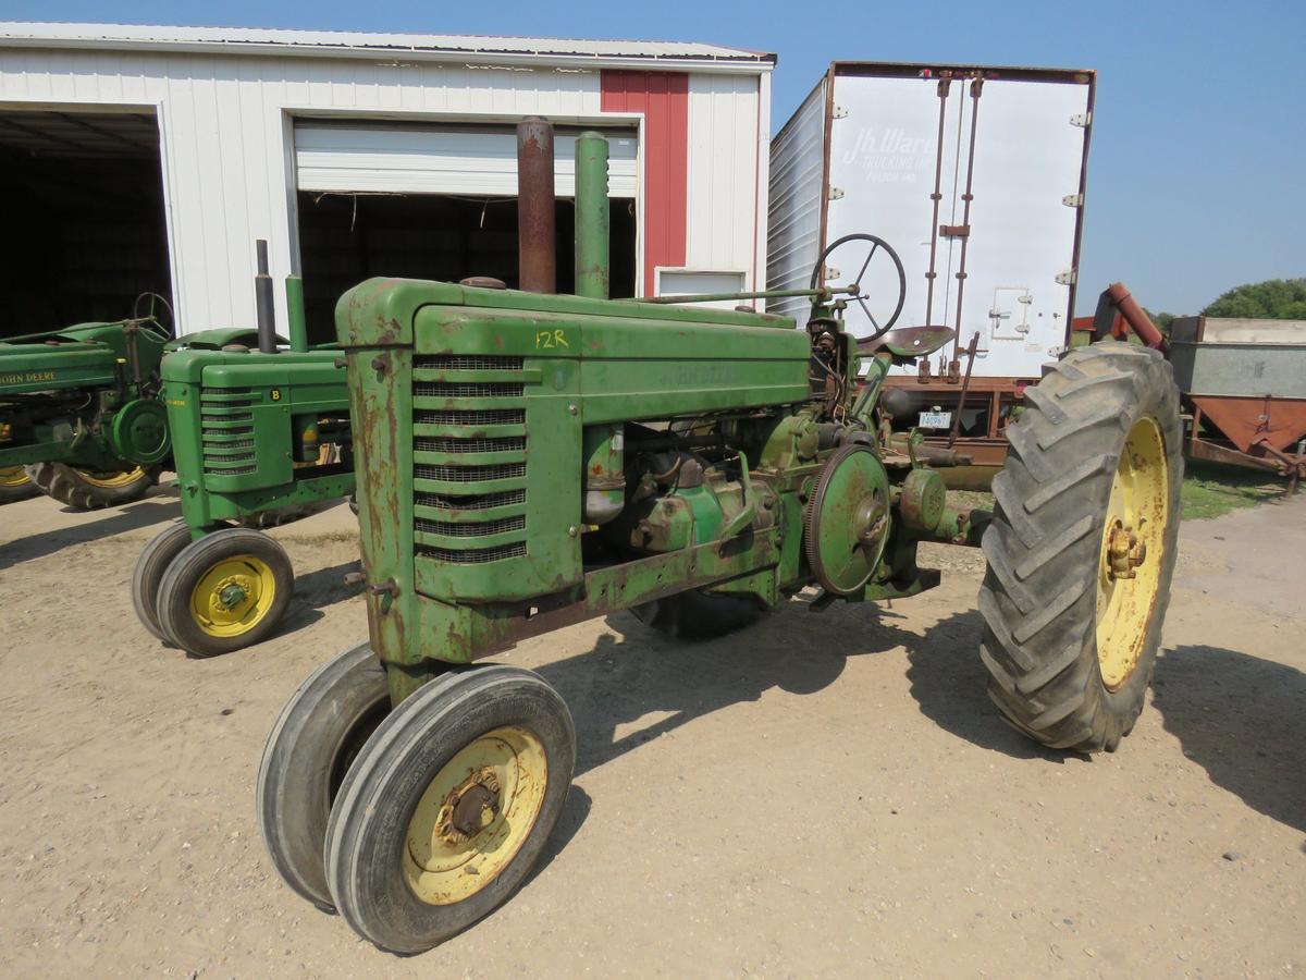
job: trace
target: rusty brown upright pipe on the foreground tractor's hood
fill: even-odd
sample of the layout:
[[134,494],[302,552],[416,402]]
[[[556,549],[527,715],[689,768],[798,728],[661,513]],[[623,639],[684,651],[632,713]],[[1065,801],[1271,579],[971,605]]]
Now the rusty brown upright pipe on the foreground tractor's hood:
[[554,124],[539,116],[517,123],[517,287],[558,291],[554,221]]

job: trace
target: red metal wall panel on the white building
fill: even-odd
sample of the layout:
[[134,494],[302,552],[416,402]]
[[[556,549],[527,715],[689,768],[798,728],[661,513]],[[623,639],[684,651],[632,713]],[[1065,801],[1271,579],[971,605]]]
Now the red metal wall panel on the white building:
[[657,265],[684,265],[690,159],[690,76],[605,71],[603,112],[644,114],[644,295]]

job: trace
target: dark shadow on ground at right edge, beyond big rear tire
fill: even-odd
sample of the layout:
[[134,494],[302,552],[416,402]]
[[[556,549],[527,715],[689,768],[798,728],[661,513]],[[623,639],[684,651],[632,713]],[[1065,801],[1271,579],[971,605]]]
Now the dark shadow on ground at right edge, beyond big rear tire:
[[1211,781],[1306,831],[1306,673],[1221,647],[1181,645],[1156,665],[1165,730]]

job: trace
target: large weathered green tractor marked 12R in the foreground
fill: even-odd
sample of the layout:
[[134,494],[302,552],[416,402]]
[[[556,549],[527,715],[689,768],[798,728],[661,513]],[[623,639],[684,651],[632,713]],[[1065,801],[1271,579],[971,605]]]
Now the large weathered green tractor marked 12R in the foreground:
[[[396,953],[504,902],[563,810],[567,706],[475,665],[522,638],[622,609],[722,632],[803,589],[814,610],[904,598],[939,581],[922,541],[982,542],[980,657],[1015,728],[1114,750],[1152,674],[1182,468],[1155,351],[1051,365],[995,512],[957,508],[878,406],[889,366],[949,329],[892,329],[896,297],[859,282],[811,290],[806,329],[609,301],[605,159],[579,140],[576,295],[370,280],[337,307],[370,638],[283,708],[257,811],[290,887]],[[852,301],[883,328],[845,332]]]

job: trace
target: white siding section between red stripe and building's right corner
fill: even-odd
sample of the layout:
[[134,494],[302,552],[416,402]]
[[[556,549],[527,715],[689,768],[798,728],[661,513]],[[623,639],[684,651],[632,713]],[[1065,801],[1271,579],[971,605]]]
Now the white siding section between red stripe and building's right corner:
[[756,77],[691,74],[684,264],[699,272],[757,276],[760,118]]

